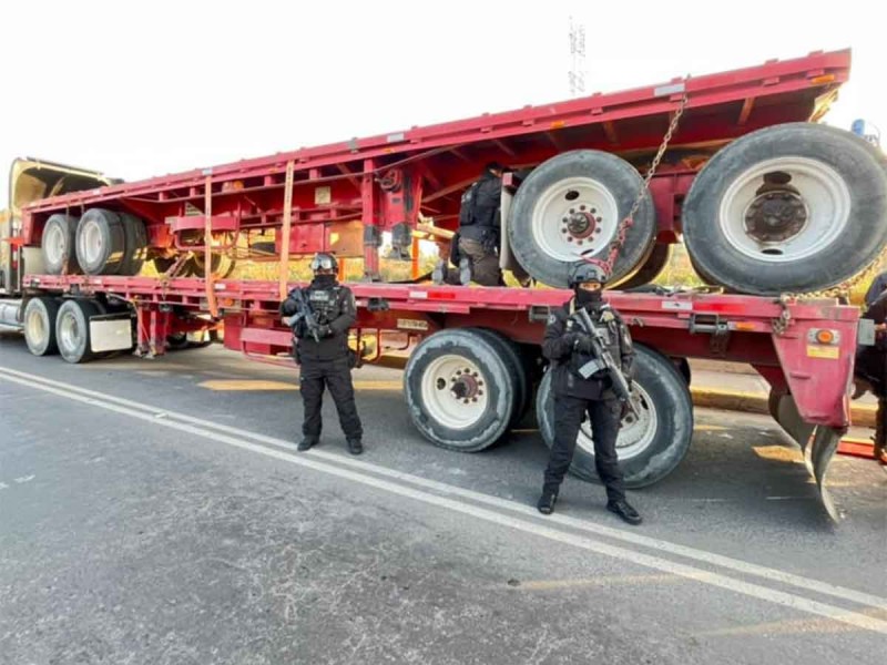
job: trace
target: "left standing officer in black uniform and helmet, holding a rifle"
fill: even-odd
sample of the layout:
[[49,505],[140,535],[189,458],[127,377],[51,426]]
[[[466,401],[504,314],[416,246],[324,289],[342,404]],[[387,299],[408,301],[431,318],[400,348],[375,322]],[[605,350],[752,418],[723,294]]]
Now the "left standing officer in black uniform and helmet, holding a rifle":
[[[351,383],[356,356],[348,348],[348,329],[357,319],[354,294],[337,282],[338,263],[332,254],[317,254],[312,270],[314,279],[308,287],[293,289],[281,305],[281,314],[294,317],[290,325],[296,337],[295,356],[302,367],[299,386],[305,419],[298,450],[308,450],[320,440],[320,407],[327,387],[336,402],[348,452],[360,454],[364,429]],[[296,291],[302,293],[302,303]]]

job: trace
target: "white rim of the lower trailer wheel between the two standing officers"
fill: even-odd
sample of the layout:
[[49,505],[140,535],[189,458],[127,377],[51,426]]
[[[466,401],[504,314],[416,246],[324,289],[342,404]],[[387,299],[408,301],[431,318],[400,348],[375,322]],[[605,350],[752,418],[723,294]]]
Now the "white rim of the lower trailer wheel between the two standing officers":
[[489,406],[487,377],[471,360],[447,355],[435,359],[421,379],[422,403],[430,418],[450,429],[467,429]]

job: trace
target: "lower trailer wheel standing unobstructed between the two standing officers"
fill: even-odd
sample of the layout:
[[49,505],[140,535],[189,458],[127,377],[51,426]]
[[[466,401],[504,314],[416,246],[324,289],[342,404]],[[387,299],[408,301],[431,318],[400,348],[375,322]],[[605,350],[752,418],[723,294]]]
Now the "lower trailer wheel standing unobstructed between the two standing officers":
[[434,444],[477,452],[508,429],[517,378],[500,345],[477,330],[441,330],[419,344],[404,374],[414,424]]

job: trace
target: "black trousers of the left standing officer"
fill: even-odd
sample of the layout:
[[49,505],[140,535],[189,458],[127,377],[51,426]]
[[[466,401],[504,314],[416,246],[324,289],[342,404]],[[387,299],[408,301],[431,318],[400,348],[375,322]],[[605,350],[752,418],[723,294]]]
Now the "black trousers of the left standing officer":
[[354,401],[351,367],[347,356],[335,360],[304,360],[298,380],[305,411],[302,433],[306,438],[320,438],[323,428],[320,408],[324,403],[324,388],[329,388],[345,437],[347,439],[363,437],[364,428]]

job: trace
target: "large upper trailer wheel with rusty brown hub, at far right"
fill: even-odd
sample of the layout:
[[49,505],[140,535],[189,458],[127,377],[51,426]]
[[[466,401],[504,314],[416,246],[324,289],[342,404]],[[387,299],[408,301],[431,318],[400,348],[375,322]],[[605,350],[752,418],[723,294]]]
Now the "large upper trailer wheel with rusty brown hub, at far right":
[[700,274],[762,296],[853,277],[887,243],[885,219],[887,157],[849,132],[812,123],[734,141],[703,167],[683,207]]

